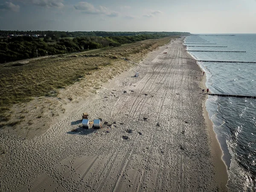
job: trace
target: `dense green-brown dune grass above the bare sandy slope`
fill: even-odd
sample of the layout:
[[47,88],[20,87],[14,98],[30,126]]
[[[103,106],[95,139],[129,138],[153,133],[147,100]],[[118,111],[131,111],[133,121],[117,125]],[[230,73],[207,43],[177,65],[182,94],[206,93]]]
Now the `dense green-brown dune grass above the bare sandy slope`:
[[[169,38],[140,41],[121,47],[99,49],[76,55],[31,60],[29,63],[0,65],[0,121],[8,121],[6,113],[14,104],[29,102],[35,97],[58,95],[58,89],[90,76],[93,71],[113,60],[145,54],[149,47],[166,44]],[[144,52],[143,52],[144,51]],[[141,58],[139,55],[138,58]],[[18,123],[18,122],[17,122]]]

